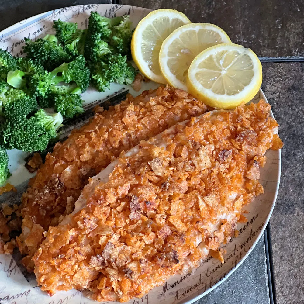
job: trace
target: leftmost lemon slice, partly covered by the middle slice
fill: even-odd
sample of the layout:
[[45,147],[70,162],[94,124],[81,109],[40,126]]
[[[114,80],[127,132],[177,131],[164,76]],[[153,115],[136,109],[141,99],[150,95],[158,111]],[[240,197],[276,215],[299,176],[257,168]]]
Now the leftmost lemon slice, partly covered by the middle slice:
[[149,79],[166,84],[158,64],[163,41],[178,27],[191,23],[174,9],[158,9],[143,18],[132,36],[132,58],[139,70]]

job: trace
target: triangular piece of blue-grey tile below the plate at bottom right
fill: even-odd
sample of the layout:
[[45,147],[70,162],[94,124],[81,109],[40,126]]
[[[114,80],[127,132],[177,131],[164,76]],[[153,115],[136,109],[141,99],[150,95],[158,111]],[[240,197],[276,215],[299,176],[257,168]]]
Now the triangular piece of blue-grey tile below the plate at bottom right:
[[270,304],[264,236],[240,267],[196,304]]

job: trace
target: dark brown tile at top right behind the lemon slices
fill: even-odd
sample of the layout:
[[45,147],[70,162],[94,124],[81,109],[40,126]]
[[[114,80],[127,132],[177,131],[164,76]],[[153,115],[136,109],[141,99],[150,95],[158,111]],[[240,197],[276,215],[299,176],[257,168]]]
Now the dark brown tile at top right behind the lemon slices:
[[119,0],[149,9],[177,9],[192,22],[215,23],[258,56],[303,56],[302,0]]

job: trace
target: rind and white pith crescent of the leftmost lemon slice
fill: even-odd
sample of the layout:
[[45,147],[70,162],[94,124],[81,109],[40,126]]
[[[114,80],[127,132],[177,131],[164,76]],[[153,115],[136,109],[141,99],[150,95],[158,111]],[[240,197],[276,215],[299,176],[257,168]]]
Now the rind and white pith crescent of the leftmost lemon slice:
[[[141,51],[142,40],[143,40],[142,36],[144,30],[148,25],[152,24],[153,21],[162,17],[169,17],[170,20],[179,19],[184,24],[191,23],[191,21],[187,18],[185,14],[178,12],[177,10],[174,9],[158,9],[156,11],[150,12],[146,17],[140,20],[140,22],[136,26],[131,41],[131,53],[132,53],[133,61],[135,62],[136,66],[139,68],[140,72],[143,75],[145,75],[147,78],[151,79],[152,81],[166,84],[167,81],[164,79],[161,73],[157,75],[153,71],[151,71],[149,64],[144,60]],[[157,62],[153,64],[158,64],[158,56],[157,56]]]

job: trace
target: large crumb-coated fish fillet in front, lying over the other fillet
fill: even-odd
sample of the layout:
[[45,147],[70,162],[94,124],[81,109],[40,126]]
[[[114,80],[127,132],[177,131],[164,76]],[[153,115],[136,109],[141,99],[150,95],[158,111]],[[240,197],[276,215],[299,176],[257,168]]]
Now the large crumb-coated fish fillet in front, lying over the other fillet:
[[269,110],[260,101],[212,111],[113,161],[46,233],[34,256],[38,285],[126,302],[209,252],[221,257],[242,207],[264,192],[266,150],[282,147]]

